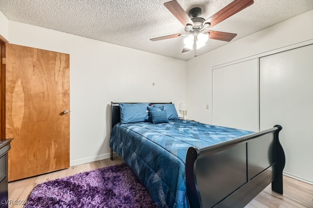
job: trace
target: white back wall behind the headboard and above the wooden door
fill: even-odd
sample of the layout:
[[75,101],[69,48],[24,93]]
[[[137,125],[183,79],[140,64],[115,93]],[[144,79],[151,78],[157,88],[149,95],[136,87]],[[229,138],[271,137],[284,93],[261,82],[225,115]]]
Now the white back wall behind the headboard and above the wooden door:
[[9,37],[70,55],[70,166],[109,158],[111,102],[186,101],[185,61],[16,21]]

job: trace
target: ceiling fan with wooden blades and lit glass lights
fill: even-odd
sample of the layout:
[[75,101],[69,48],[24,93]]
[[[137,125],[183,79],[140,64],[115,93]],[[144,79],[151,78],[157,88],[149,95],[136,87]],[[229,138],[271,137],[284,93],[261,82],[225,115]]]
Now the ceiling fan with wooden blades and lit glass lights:
[[215,13],[207,20],[200,17],[201,8],[192,8],[189,14],[183,10],[180,4],[176,0],[165,2],[164,6],[170,10],[170,12],[184,25],[185,33],[177,33],[173,35],[162,36],[158,38],[150,39],[150,41],[160,41],[170,38],[186,37],[184,39],[184,48],[182,53],[194,50],[195,57],[197,56],[196,49],[205,45],[205,42],[210,39],[219,41],[231,41],[237,34],[226,33],[220,31],[208,30],[210,27],[226,20],[232,15],[240,12],[246,7],[252,5],[253,0],[234,0],[223,9]]

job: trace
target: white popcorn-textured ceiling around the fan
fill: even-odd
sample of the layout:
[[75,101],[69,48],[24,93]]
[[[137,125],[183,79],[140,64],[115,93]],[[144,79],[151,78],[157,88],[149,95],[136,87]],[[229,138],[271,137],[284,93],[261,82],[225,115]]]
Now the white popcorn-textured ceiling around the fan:
[[[184,26],[163,5],[166,1],[169,0],[0,0],[0,11],[12,21],[181,60],[192,59],[193,51],[181,53],[181,37],[157,42],[149,40],[184,32]],[[178,2],[187,13],[191,8],[200,7],[201,17],[207,19],[232,0]],[[254,4],[211,29],[237,33],[233,42],[312,9],[313,0],[254,0]],[[197,54],[227,43],[209,40]]]

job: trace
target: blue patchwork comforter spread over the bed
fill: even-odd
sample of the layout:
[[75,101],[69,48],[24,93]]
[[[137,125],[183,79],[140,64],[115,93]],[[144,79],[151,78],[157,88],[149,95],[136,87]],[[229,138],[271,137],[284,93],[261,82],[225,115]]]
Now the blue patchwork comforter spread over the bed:
[[180,119],[162,124],[118,123],[112,128],[110,147],[133,169],[159,207],[188,208],[188,148],[211,146],[250,133]]

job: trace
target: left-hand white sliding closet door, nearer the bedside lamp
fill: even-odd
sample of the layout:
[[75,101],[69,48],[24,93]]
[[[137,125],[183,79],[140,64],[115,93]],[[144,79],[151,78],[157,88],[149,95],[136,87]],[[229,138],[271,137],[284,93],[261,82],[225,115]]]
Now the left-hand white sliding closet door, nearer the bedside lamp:
[[213,124],[258,131],[258,60],[213,69]]

